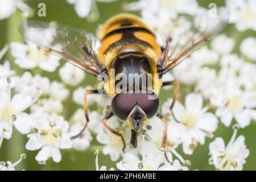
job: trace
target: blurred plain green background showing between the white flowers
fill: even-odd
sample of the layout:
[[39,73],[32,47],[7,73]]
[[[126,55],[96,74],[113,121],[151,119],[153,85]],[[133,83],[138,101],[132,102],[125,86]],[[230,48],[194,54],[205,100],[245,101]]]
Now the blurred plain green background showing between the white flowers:
[[[158,0],[156,0],[158,1]],[[85,18],[79,18],[77,16],[73,5],[69,5],[65,0],[28,0],[25,1],[28,6],[35,10],[35,16],[32,19],[38,19],[43,21],[56,21],[61,24],[67,24],[76,28],[84,28],[86,31],[92,32],[95,34],[96,28],[98,24],[104,23],[105,20],[110,18],[111,16],[122,13],[122,6],[127,2],[131,1],[115,1],[113,3],[102,3],[97,2],[98,9],[100,11],[100,19],[96,22],[88,22]],[[44,2],[46,3],[46,17],[38,17],[36,12],[38,10],[38,3]],[[216,3],[217,6],[224,6],[225,1],[198,1],[200,6],[205,8],[208,7],[209,3]],[[134,14],[139,15],[139,12],[132,12]],[[18,32],[18,24],[22,20],[20,18],[20,11],[17,10],[13,15],[11,15],[8,19],[0,20],[0,49],[5,46],[6,43],[10,43],[13,41],[23,42],[21,35]],[[239,53],[239,45],[240,42],[248,36],[255,36],[255,32],[248,30],[245,32],[238,32],[236,28],[234,28],[233,24],[229,24],[223,30],[225,34],[232,37],[236,40],[236,48],[234,49],[235,53]],[[20,69],[17,65],[14,64],[14,58],[10,55],[10,52],[6,54],[4,59],[1,60],[1,64],[4,60],[10,60],[11,68],[13,68],[17,75],[22,75],[26,70]],[[61,65],[64,64],[64,61],[61,61]],[[32,71],[32,73],[34,73]],[[57,71],[55,73],[48,73],[44,71],[40,71],[40,75],[47,76],[51,78],[51,80],[61,81]],[[83,82],[83,86],[85,85],[94,85],[96,78],[90,75],[86,75],[85,81]],[[181,86],[182,88],[183,86]],[[71,92],[76,88],[68,87]],[[187,89],[187,88],[186,88]],[[162,90],[160,92],[160,99],[162,103],[166,101],[169,96],[171,96],[172,90]],[[181,97],[182,97],[182,89],[181,89]],[[72,95],[69,97],[67,101],[64,102],[65,110],[68,113],[65,115],[72,115],[78,106],[73,104]],[[66,118],[67,119],[67,118]],[[233,121],[233,124],[235,122]],[[256,169],[256,125],[255,122],[251,122],[250,126],[247,126],[245,129],[238,130],[238,135],[245,135],[245,142],[247,148],[250,150],[250,155],[246,159],[246,164],[244,165],[245,170],[255,170]],[[229,127],[226,128],[222,123],[219,122],[218,129],[214,135],[214,137],[222,137],[225,140],[225,143],[228,143],[232,136],[233,130]],[[179,147],[180,154],[184,157],[184,159],[191,160],[192,167],[191,169],[199,169],[199,170],[214,170],[213,166],[209,165],[209,143],[213,141],[214,138],[206,138],[206,142],[203,146],[198,146],[191,156],[186,156],[183,154],[181,150],[181,146]],[[11,162],[15,162],[19,159],[20,154],[26,153],[27,158],[23,160],[16,169],[26,169],[26,170],[94,170],[95,169],[95,155],[93,152],[96,149],[101,150],[101,147],[96,142],[96,136],[93,136],[92,146],[84,152],[77,152],[74,150],[61,150],[62,160],[60,163],[54,163],[51,159],[47,161],[47,165],[39,165],[35,160],[35,156],[38,151],[27,151],[25,148],[25,144],[27,142],[26,135],[22,135],[15,130],[13,132],[13,137],[10,140],[3,140],[2,147],[0,148],[0,161],[1,160],[10,160]],[[121,160],[121,159],[120,159]],[[118,160],[119,162],[119,160]],[[104,165],[107,168],[115,167],[115,163],[111,162],[110,157],[108,155],[103,155],[100,151],[99,155],[99,164],[100,166]]]

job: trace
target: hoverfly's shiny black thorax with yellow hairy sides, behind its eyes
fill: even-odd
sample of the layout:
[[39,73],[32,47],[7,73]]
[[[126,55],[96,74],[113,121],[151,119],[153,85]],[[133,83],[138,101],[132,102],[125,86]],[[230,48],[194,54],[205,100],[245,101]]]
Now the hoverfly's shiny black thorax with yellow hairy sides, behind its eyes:
[[155,64],[146,55],[138,52],[122,53],[115,57],[109,67],[109,78],[105,90],[110,97],[121,92],[148,90],[159,93],[162,82]]

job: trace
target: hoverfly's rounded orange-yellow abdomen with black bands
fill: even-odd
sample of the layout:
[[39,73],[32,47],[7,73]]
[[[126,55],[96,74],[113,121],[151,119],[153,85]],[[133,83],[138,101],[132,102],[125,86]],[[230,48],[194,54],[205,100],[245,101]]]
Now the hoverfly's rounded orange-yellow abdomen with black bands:
[[107,67],[121,54],[147,55],[155,64],[162,53],[151,28],[131,14],[119,14],[110,18],[102,27],[99,38],[101,48],[98,56]]

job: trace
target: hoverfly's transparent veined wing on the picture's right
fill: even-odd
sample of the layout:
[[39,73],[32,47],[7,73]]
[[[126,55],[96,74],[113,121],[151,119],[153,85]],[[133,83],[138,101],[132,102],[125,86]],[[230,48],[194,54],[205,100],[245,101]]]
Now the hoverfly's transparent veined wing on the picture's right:
[[166,38],[166,48],[163,59],[158,62],[160,71],[167,73],[207,43],[225,27],[228,18],[228,10],[219,8],[196,16],[181,16],[170,23],[162,35],[163,39]]

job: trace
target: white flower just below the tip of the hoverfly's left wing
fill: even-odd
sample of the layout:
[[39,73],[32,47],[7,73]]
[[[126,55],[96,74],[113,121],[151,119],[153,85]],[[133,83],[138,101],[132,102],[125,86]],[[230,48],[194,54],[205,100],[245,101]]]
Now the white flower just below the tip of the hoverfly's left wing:
[[53,72],[59,66],[59,57],[38,49],[34,44],[12,42],[11,54],[16,58],[15,63],[23,69],[40,67],[44,71]]

